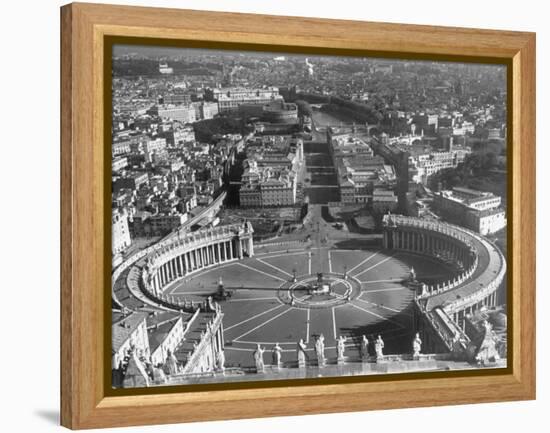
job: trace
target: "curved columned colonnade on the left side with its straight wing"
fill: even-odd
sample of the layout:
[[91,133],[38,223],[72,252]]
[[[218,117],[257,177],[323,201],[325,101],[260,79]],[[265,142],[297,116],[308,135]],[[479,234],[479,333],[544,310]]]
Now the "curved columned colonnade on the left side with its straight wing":
[[148,304],[156,310],[193,313],[184,334],[195,338],[189,340],[189,347],[175,350],[183,361],[172,380],[212,372],[219,366],[224,348],[223,313],[211,297],[203,302],[186,301],[166,296],[165,289],[202,269],[253,255],[252,233],[250,223],[180,233],[134,254],[113,271],[112,298],[121,309],[141,310]]

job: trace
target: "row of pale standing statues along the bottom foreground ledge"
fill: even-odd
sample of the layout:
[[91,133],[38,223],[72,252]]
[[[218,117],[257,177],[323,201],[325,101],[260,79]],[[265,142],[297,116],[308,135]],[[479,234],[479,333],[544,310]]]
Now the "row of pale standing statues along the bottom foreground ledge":
[[[343,364],[346,361],[345,356],[345,350],[346,350],[346,341],[348,340],[347,337],[340,335],[336,339],[336,362],[337,364]],[[367,362],[371,360],[371,356],[369,355],[369,345],[371,343],[369,342],[366,335],[363,335],[361,339],[361,345],[360,345],[360,355],[361,360],[363,362]],[[382,361],[384,360],[384,340],[379,335],[376,340],[374,340],[374,360],[375,361]],[[316,336],[315,343],[314,343],[314,352],[315,352],[315,358],[313,358],[313,361],[317,361],[317,365],[319,367],[324,367],[327,363],[327,357],[325,354],[325,337],[323,334],[320,334]],[[422,340],[420,339],[420,335],[416,333],[413,341],[412,341],[412,356],[413,359],[418,359],[420,357],[420,351],[422,349]],[[264,349],[260,344],[256,346],[256,350],[253,352],[254,357],[254,364],[256,366],[257,372],[263,372],[265,369],[264,364],[264,353],[266,349]],[[303,339],[300,339],[296,345],[296,357],[298,361],[298,367],[305,367],[307,362],[310,360],[310,356],[307,353],[308,347],[307,344],[304,342]],[[279,345],[279,343],[276,343],[275,346],[273,346],[271,350],[271,357],[272,357],[272,365],[275,367],[281,367],[282,366],[282,353],[283,349]]]

